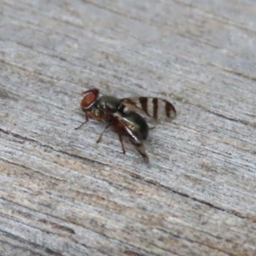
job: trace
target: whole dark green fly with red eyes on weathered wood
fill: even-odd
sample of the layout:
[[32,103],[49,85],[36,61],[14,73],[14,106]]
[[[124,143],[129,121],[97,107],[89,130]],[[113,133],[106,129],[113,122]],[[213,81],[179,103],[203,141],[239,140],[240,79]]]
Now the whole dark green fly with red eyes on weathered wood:
[[83,93],[83,99],[80,106],[85,114],[84,125],[89,119],[96,119],[106,122],[104,130],[96,143],[102,139],[103,133],[109,126],[118,132],[119,141],[123,153],[125,147],[123,136],[129,138],[137,151],[143,156],[143,159],[148,162],[148,154],[144,148],[143,141],[148,137],[148,122],[155,123],[160,119],[159,113],[163,113],[161,117],[167,120],[172,120],[176,117],[176,110],[172,103],[160,98],[136,97],[136,98],[116,98],[113,96],[101,96],[99,90],[90,89]]

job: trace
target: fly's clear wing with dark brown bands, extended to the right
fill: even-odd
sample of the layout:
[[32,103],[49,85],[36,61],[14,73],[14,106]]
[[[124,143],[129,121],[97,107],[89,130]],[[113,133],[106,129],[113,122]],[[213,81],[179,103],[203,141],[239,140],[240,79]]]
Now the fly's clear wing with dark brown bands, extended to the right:
[[176,109],[171,102],[155,97],[123,98],[121,102],[131,111],[146,114],[149,118],[156,120],[172,121],[176,117]]

